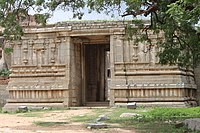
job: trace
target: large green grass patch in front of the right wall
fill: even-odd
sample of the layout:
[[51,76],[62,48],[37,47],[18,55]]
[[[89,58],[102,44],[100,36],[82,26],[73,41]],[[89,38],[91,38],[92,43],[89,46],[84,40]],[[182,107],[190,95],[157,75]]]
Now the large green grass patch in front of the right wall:
[[[139,117],[121,118],[122,113],[138,113]],[[72,121],[91,122],[101,115],[107,115],[110,120],[107,123],[117,123],[121,127],[134,128],[137,132],[145,133],[198,133],[192,132],[184,126],[177,126],[177,122],[181,123],[186,118],[200,117],[200,107],[195,108],[113,108],[93,110],[93,113],[75,116]]]

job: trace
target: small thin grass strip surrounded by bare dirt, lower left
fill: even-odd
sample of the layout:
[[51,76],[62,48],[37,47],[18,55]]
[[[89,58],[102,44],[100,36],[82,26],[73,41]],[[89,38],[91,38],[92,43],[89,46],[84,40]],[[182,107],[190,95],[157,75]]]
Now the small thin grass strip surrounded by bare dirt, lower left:
[[43,126],[43,127],[51,127],[51,126],[56,126],[56,125],[68,124],[67,122],[46,122],[46,121],[35,121],[33,123],[37,126]]

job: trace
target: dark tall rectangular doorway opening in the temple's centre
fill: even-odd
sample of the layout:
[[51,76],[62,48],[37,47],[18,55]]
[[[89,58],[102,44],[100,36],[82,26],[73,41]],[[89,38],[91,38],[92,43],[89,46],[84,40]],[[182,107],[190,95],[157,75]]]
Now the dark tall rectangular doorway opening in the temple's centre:
[[84,101],[108,100],[109,44],[84,45]]

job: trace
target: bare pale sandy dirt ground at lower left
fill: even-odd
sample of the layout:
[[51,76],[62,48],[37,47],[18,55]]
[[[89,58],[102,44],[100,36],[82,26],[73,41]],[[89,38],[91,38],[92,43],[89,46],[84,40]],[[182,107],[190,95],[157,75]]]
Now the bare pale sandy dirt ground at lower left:
[[[91,109],[40,113],[35,114],[35,116],[34,114],[29,116],[26,113],[0,114],[0,133],[134,133],[133,129],[126,128],[87,129],[84,123],[69,120],[72,116],[92,113]],[[45,127],[34,124],[38,121],[67,122],[67,124]]]

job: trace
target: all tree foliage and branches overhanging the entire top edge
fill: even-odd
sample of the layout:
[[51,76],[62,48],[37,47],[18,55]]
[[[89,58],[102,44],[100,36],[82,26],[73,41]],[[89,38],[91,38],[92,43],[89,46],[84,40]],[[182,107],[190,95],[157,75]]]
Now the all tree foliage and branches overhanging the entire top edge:
[[28,16],[29,10],[34,10],[37,22],[45,25],[58,8],[71,10],[74,17],[81,19],[84,7],[89,12],[106,13],[125,7],[123,17],[149,17],[149,26],[145,27],[141,21],[134,20],[138,30],[127,29],[140,36],[136,42],[148,41],[151,45],[148,31],[154,34],[163,32],[164,39],[157,41],[161,48],[158,55],[162,64],[195,67],[200,62],[199,0],[0,0],[0,26],[4,28],[3,35],[7,39],[20,39],[23,31],[19,22]]

